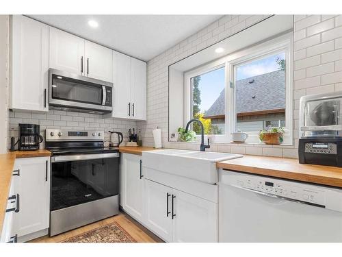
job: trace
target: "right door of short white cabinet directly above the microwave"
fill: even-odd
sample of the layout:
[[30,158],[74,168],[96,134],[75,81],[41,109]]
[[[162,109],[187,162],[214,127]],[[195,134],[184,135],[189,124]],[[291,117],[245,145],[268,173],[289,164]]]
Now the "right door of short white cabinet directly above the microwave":
[[86,40],[86,75],[94,79],[112,82],[113,50]]

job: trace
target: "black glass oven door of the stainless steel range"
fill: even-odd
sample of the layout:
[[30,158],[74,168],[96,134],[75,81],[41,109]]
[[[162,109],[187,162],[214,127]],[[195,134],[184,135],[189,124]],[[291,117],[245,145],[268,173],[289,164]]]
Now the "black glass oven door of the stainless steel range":
[[118,195],[119,154],[51,157],[51,211]]

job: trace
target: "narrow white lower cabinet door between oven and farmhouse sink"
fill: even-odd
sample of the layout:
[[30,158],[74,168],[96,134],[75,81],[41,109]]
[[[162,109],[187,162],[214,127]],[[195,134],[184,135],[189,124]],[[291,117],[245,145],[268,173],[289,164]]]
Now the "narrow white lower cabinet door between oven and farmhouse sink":
[[144,223],[144,177],[142,157],[121,155],[120,205],[131,217]]

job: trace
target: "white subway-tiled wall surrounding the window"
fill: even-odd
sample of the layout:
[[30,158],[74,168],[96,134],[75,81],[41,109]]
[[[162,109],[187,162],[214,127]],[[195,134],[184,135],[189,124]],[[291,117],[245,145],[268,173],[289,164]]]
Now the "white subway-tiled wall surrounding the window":
[[[265,19],[263,15],[227,15],[189,36],[147,64],[147,121],[144,145],[153,145],[153,128],[162,130],[164,147],[199,149],[196,143],[168,143],[168,66]],[[294,16],[293,146],[215,144],[210,151],[298,157],[299,99],[302,95],[342,90],[342,16]]]

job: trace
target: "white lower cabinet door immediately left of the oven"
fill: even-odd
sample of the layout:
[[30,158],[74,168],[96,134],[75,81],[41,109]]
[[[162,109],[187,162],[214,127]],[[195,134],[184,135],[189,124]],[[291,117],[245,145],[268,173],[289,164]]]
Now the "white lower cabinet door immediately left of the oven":
[[19,241],[26,241],[31,239],[27,235],[49,228],[50,158],[20,158],[15,162],[19,175],[13,177],[13,182],[20,207],[14,213],[13,230]]

